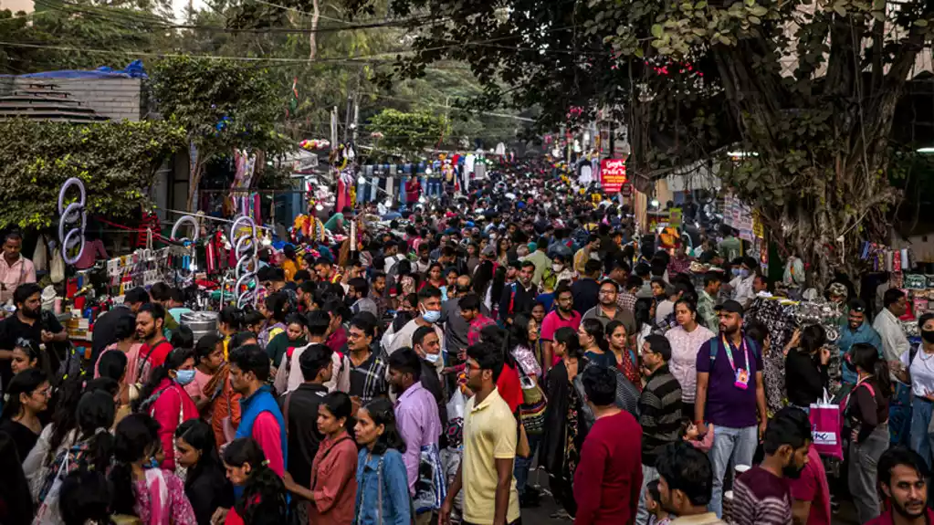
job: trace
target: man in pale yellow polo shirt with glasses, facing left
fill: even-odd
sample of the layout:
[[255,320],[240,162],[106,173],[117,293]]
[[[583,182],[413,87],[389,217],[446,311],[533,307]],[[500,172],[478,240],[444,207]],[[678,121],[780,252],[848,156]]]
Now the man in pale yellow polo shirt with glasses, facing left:
[[454,499],[464,490],[463,522],[507,525],[519,519],[519,494],[513,477],[517,420],[500,397],[499,348],[467,348],[467,388],[474,397],[464,407],[463,459],[441,506],[441,523],[450,523]]

